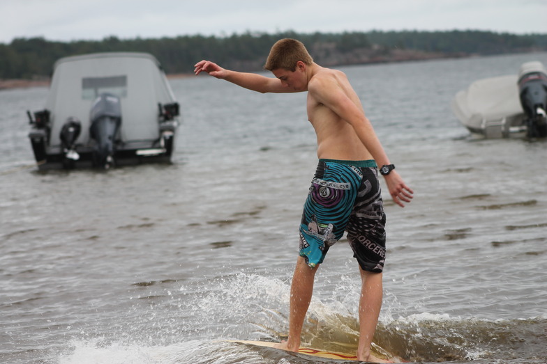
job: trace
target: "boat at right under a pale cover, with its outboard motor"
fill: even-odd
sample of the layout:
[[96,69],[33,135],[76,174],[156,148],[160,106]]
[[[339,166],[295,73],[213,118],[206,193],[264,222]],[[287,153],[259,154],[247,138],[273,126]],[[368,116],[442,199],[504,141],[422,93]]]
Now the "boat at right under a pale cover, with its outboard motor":
[[474,81],[452,101],[456,117],[486,138],[547,137],[547,72],[541,62],[523,63],[518,74]]

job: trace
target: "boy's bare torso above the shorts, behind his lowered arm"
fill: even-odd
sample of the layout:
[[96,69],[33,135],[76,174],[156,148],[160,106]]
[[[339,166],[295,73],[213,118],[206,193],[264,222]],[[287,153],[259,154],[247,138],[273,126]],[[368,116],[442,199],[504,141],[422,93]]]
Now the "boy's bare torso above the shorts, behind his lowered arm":
[[[323,72],[326,72],[322,74]],[[361,110],[363,106],[359,97],[350,86],[343,72],[324,68],[313,77],[334,77],[343,92]],[[364,160],[373,159],[355,133],[352,125],[341,119],[334,111],[317,102],[308,93],[306,104],[308,120],[310,120],[317,135],[317,157],[324,159]]]

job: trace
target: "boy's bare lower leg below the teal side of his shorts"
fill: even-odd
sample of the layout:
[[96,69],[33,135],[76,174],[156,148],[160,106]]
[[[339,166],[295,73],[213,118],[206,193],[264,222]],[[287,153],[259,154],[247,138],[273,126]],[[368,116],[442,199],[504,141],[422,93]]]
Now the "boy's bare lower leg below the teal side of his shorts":
[[289,338],[277,345],[278,349],[298,351],[300,347],[302,325],[310,306],[313,294],[313,280],[318,267],[319,265],[310,268],[304,258],[298,257],[297,267],[294,269],[291,283]]

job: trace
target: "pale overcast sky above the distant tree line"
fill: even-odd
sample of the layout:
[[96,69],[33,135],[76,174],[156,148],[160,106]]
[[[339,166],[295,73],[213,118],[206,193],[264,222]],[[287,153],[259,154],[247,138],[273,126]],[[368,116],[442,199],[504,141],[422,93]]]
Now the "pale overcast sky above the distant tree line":
[[547,33],[547,0],[0,0],[0,42],[246,31]]

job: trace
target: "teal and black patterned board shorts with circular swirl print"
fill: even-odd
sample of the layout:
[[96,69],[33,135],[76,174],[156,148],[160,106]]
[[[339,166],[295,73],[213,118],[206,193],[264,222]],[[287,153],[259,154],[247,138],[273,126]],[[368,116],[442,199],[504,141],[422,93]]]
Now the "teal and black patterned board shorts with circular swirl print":
[[347,231],[361,268],[381,272],[385,223],[375,161],[320,159],[302,213],[299,255],[315,267]]

